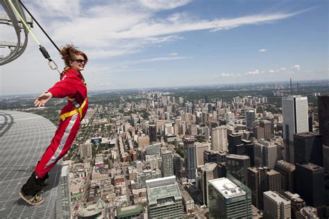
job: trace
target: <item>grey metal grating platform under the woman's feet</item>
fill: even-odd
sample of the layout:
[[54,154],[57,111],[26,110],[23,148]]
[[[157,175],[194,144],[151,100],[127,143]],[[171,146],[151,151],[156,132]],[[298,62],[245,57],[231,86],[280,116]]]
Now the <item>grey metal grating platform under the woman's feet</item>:
[[48,119],[36,114],[0,110],[0,218],[51,218],[55,215],[57,185],[61,166],[49,173],[49,189],[42,194],[44,203],[29,206],[19,191],[56,131]]

